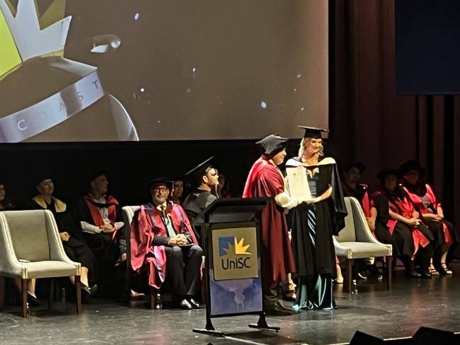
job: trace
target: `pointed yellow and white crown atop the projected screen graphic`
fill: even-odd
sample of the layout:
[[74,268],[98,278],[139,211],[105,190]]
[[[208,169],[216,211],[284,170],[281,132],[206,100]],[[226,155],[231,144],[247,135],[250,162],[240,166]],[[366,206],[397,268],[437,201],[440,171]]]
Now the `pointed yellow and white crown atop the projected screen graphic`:
[[40,15],[37,0],[0,0],[0,76],[33,57],[63,55],[71,16],[67,0],[54,0]]

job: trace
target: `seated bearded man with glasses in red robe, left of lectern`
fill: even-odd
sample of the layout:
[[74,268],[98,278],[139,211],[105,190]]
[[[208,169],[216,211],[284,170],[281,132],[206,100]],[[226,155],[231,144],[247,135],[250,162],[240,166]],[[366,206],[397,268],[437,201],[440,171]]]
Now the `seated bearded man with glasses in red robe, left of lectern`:
[[203,250],[180,205],[168,201],[173,182],[156,178],[149,182],[152,201],[141,206],[131,224],[131,265],[149,286],[159,289],[168,282],[183,309],[200,308],[195,300],[200,288]]

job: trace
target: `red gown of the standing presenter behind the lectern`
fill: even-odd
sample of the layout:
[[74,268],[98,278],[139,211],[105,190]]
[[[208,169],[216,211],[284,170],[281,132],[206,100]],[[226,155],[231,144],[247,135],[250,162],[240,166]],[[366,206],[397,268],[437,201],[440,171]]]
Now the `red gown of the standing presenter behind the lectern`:
[[[275,197],[284,192],[284,180],[280,169],[271,160],[259,158],[251,168],[243,198]],[[295,271],[294,257],[284,209],[275,199],[270,201],[260,215],[263,257],[263,288],[270,288],[287,280],[287,274]]]

